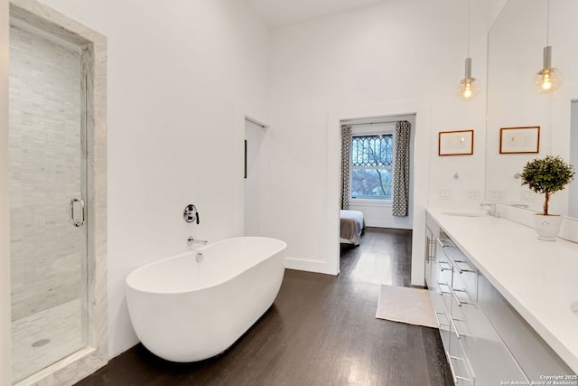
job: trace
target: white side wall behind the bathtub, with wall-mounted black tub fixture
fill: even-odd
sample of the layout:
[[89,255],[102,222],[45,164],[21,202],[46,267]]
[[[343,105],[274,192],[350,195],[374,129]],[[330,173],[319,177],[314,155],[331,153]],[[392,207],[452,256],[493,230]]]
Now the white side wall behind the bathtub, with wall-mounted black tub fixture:
[[[242,231],[245,115],[266,120],[268,32],[244,2],[42,0],[108,40],[111,356],[136,343],[124,279]],[[200,225],[182,220],[194,203]]]

